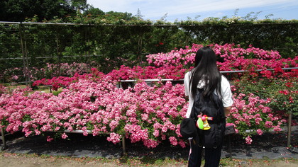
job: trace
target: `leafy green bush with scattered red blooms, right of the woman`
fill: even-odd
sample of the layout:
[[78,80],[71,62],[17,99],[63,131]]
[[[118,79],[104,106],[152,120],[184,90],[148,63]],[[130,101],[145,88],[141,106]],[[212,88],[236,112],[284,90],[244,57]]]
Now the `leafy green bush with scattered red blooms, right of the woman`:
[[298,69],[284,71],[275,68],[273,71],[248,72],[234,81],[237,93],[254,93],[260,98],[270,98],[270,108],[283,113],[298,115]]

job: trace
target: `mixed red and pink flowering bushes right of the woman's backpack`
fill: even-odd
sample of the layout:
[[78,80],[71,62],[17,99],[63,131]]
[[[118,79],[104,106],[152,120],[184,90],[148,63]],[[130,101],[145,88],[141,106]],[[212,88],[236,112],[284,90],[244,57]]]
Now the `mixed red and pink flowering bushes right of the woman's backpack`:
[[[237,122],[241,128],[253,129],[246,137],[246,142],[251,143],[251,134],[262,134],[263,128],[271,127],[275,131],[280,130],[280,125],[284,125],[285,120],[290,114],[298,115],[298,70],[292,69],[284,71],[281,68],[275,68],[273,71],[250,71],[241,79],[233,81],[234,92],[242,100],[242,105],[234,105],[236,108],[243,108],[247,113],[233,113],[229,121]],[[250,96],[247,96],[250,95]],[[250,105],[258,102],[258,108],[252,108]],[[238,104],[238,103],[236,103]],[[255,112],[255,110],[260,110]],[[270,114],[267,111],[270,110]],[[244,116],[244,118],[243,118]],[[251,120],[246,120],[251,119]],[[244,121],[243,121],[244,119]],[[251,124],[251,121],[258,124]],[[265,125],[264,125],[265,123]],[[242,125],[241,125],[242,124]],[[289,122],[288,122],[289,124]],[[292,125],[293,122],[292,122]],[[290,126],[290,125],[288,125]]]

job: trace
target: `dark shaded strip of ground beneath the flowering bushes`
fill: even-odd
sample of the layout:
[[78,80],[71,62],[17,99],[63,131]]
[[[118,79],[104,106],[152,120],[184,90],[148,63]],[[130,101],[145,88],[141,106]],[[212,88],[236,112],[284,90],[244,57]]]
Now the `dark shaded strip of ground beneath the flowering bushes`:
[[[228,147],[228,137],[223,145],[222,158],[232,156],[236,159],[298,159],[298,128],[292,132],[292,148],[287,148],[287,134],[265,133],[261,136],[252,137],[253,144],[245,144],[245,139],[238,134],[232,134],[231,153]],[[104,157],[121,158],[123,156],[122,146],[106,141],[106,135],[93,137],[91,134],[67,134],[68,139],[55,139],[46,142],[44,136],[23,137],[23,133],[16,132],[6,136],[5,151],[18,154],[45,154],[51,156],[73,156],[73,157]],[[128,157],[150,157],[158,159],[185,159],[189,154],[189,146],[171,146],[170,142],[162,142],[155,149],[148,149],[142,143],[131,144],[126,140],[126,151]]]

